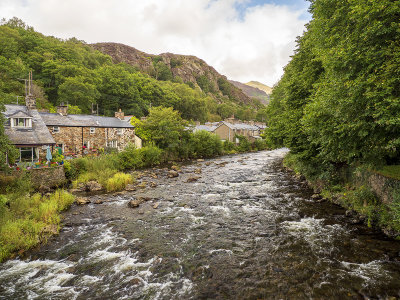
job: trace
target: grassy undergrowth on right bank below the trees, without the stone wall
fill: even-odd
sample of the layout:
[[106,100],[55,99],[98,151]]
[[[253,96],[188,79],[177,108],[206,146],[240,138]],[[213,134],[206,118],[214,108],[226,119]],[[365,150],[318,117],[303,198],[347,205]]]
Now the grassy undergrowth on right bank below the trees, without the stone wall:
[[[368,226],[380,228],[391,236],[399,237],[400,191],[393,193],[391,203],[383,203],[369,184],[360,181],[358,179],[360,175],[356,175],[363,172],[388,175],[386,170],[397,170],[397,166],[382,168],[378,171],[363,167],[342,166],[333,172],[323,170],[312,162],[303,161],[301,156],[290,153],[284,159],[284,166],[298,175],[305,176],[310,186],[324,198],[365,217]],[[393,171],[390,174],[391,178],[397,178]]]

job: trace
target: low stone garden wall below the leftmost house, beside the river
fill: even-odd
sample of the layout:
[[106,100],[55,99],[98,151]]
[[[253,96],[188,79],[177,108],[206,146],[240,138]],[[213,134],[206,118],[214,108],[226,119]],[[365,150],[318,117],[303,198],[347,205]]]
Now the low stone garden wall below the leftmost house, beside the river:
[[31,169],[28,172],[31,175],[33,187],[36,189],[39,189],[41,186],[52,188],[62,186],[66,183],[63,166]]

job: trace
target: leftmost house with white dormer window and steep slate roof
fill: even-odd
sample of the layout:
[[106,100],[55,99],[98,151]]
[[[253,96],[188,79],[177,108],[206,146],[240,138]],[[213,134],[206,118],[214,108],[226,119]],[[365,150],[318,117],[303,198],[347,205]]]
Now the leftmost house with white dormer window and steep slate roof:
[[[33,100],[34,101],[34,100]],[[27,97],[28,105],[6,104],[5,134],[19,150],[19,162],[36,162],[45,159],[48,147],[56,142],[47,129],[40,113]]]

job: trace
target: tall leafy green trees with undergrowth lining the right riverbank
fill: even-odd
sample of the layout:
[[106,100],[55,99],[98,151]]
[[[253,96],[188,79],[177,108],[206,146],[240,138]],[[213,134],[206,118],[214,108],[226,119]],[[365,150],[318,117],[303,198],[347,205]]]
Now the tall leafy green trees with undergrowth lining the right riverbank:
[[272,93],[267,140],[323,195],[400,232],[400,192],[383,204],[355,174],[400,178],[398,2],[313,0],[313,17]]

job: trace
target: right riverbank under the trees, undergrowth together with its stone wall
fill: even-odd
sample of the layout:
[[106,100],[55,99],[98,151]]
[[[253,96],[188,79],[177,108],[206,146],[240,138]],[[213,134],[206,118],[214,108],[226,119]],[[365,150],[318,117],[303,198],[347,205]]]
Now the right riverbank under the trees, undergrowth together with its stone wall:
[[307,180],[316,193],[314,198],[344,207],[354,223],[365,223],[391,238],[400,239],[400,181],[396,178],[367,167],[344,167],[335,174],[336,178],[330,175],[324,180],[321,174],[310,172],[309,164],[290,153],[283,165]]

